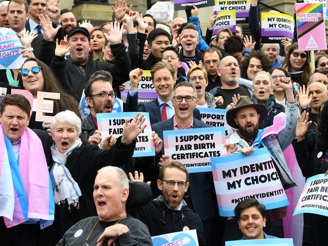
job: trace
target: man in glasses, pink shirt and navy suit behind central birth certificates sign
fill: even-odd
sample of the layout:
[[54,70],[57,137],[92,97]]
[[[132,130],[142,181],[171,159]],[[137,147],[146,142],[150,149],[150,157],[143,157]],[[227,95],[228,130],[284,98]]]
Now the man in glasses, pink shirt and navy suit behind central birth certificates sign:
[[[172,105],[175,114],[168,120],[152,125],[153,131],[163,139],[163,131],[211,127],[193,116],[197,106],[197,91],[189,82],[181,82],[173,91]],[[162,149],[164,153],[164,149]],[[162,159],[168,158],[163,155]],[[159,166],[162,162],[159,163]],[[204,226],[204,239],[207,245],[219,245],[216,227],[218,205],[215,198],[214,182],[211,172],[190,174],[190,196],[185,197],[188,206],[201,218]]]

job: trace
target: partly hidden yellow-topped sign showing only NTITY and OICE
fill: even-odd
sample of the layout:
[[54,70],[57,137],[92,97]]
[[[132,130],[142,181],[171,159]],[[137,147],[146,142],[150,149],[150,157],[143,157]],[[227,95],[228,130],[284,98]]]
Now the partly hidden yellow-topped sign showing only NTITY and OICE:
[[212,33],[212,38],[216,36],[221,29],[229,28],[232,33],[236,32],[236,11],[226,10],[217,13]]

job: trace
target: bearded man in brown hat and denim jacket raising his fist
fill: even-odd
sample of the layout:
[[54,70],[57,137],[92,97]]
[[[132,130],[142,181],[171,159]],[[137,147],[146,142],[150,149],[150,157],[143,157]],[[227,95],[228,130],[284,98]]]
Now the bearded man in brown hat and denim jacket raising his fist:
[[[283,82],[282,82],[283,83]],[[291,81],[286,82],[286,93],[293,93]],[[272,162],[277,170],[279,179],[284,189],[296,185],[292,174],[288,169],[283,151],[287,149],[295,138],[297,118],[300,116],[300,108],[293,96],[286,97],[286,127],[277,134],[270,134],[261,139],[258,147],[267,147]],[[247,97],[241,97],[235,108],[226,113],[227,124],[236,130],[231,134],[227,142],[232,146],[237,145],[237,152],[249,155],[254,150],[252,144],[260,134],[259,122],[267,117],[267,110],[263,104],[254,104]],[[247,195],[247,194],[245,194]],[[264,231],[273,236],[284,237],[283,218],[287,214],[287,207],[266,210],[266,227]],[[238,240],[243,236],[238,227],[238,222],[229,217],[224,228],[224,241]]]

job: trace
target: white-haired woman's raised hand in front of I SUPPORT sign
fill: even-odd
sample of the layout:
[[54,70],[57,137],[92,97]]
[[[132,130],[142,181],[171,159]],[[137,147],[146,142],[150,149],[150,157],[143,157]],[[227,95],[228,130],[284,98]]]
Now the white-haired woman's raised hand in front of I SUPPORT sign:
[[129,123],[128,119],[125,119],[121,141],[127,145],[130,145],[147,126],[146,124],[144,125],[146,120],[145,115],[141,115],[140,117],[139,115],[140,113],[137,113],[131,123]]

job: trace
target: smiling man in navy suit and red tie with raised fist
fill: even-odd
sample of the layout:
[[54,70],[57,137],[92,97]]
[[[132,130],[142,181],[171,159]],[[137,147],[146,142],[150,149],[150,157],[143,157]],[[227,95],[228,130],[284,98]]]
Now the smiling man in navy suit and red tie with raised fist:
[[[143,75],[143,70],[136,68],[129,74],[131,83],[127,93],[125,110],[127,112],[148,112],[151,124],[155,124],[167,120],[174,115],[174,107],[171,100],[176,78],[171,64],[158,62],[150,71],[152,83],[158,94],[157,99],[138,105],[137,87]],[[198,109],[195,109],[194,116],[197,119],[201,118]]]

